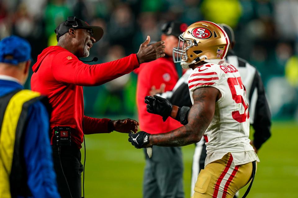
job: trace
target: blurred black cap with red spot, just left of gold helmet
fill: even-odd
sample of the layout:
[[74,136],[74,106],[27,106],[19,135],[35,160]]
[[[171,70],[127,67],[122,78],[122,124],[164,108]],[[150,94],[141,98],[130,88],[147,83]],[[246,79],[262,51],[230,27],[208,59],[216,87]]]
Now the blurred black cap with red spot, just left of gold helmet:
[[181,23],[178,21],[169,21],[161,26],[161,32],[165,35],[174,35],[178,38],[180,34],[185,32],[187,27],[188,25],[186,23]]

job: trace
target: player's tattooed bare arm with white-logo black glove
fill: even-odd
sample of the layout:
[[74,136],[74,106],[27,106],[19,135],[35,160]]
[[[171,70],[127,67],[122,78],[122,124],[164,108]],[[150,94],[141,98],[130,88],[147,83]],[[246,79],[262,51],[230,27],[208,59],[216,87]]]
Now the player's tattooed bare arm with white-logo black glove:
[[[193,92],[194,104],[188,114],[188,123],[173,131],[149,135],[144,131],[129,134],[129,141],[136,148],[157,146],[184,146],[201,140],[211,123],[215,111],[215,102],[221,97],[218,89],[213,87],[198,88]],[[150,106],[150,105],[149,105]],[[177,114],[174,106],[171,115]],[[139,136],[138,136],[139,135]],[[147,136],[147,140],[146,140]]]

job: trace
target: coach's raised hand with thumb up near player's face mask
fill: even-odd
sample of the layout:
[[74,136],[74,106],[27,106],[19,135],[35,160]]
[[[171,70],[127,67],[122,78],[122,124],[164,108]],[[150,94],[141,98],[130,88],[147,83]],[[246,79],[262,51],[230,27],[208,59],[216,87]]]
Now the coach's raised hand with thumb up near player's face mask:
[[157,58],[165,56],[165,41],[156,42],[150,46],[147,46],[150,42],[150,37],[147,36],[145,42],[143,42],[140,46],[140,49],[137,53],[139,64],[144,62],[154,61]]

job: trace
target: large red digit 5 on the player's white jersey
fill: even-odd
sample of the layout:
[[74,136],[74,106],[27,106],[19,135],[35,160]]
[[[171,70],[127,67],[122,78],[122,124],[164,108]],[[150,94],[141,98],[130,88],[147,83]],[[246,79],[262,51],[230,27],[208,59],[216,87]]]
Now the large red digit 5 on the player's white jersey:
[[236,103],[242,103],[242,105],[244,107],[244,113],[243,114],[240,114],[239,111],[233,111],[232,112],[232,117],[237,122],[243,123],[243,122],[246,121],[246,118],[249,118],[249,114],[248,113],[246,114],[246,110],[248,108],[248,105],[245,104],[245,101],[243,99],[244,96],[242,97],[241,95],[237,95],[236,89],[235,89],[235,85],[239,85],[239,87],[241,89],[244,89],[243,90],[244,92],[246,91],[245,90],[245,87],[242,84],[241,77],[238,77],[238,78],[228,78],[228,84],[229,84],[229,87],[230,87],[230,90],[231,90],[231,93],[232,93],[233,100]]

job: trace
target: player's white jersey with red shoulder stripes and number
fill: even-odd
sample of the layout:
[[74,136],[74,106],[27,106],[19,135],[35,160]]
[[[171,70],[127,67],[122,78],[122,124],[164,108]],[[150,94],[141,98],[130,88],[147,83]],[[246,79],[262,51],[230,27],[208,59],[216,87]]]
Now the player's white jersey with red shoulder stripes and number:
[[217,88],[222,94],[215,103],[214,117],[204,133],[207,155],[213,152],[224,155],[228,152],[254,151],[248,138],[246,90],[236,67],[228,63],[206,63],[194,69],[188,78],[192,104],[194,90],[207,86]]

